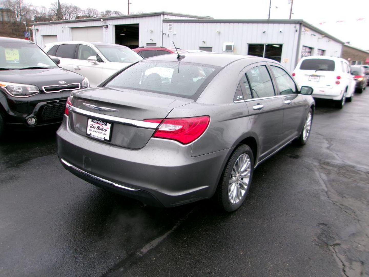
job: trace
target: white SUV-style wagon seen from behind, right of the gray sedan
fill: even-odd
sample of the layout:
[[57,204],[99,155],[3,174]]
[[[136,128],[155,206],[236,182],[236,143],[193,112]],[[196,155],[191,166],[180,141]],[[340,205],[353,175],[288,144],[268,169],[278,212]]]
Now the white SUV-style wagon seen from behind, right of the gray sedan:
[[354,77],[345,59],[327,56],[302,58],[292,73],[297,84],[311,86],[314,98],[335,100],[342,108],[346,99],[350,102],[355,90]]

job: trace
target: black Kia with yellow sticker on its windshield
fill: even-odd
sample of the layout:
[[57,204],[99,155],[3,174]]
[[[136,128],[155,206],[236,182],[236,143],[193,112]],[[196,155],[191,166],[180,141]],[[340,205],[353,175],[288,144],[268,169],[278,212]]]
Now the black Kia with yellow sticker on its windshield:
[[0,137],[6,126],[62,121],[70,92],[89,81],[59,63],[31,41],[0,37]]

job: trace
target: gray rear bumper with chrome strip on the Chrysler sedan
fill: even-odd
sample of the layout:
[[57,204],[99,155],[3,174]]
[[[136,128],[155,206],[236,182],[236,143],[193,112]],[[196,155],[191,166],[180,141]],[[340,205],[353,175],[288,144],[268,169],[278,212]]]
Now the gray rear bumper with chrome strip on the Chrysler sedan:
[[156,138],[131,150],[76,134],[65,119],[57,144],[63,166],[78,177],[144,204],[165,207],[210,198],[232,150],[192,157],[191,144]]

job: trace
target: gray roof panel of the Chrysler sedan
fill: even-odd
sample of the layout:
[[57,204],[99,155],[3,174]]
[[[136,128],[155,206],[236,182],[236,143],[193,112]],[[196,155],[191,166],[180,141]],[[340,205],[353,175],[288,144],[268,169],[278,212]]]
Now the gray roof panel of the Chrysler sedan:
[[[237,61],[239,59],[257,58],[257,57],[245,56],[245,55],[216,54],[216,53],[183,53],[181,54],[181,56],[184,56],[184,58],[180,60],[181,62],[192,62],[196,64],[206,64],[206,65],[221,66],[221,67],[224,67],[230,64],[231,62]],[[264,58],[261,58],[261,59],[262,61],[270,61],[269,59],[264,59]],[[146,58],[142,61],[178,62],[177,54],[154,56],[154,57]]]

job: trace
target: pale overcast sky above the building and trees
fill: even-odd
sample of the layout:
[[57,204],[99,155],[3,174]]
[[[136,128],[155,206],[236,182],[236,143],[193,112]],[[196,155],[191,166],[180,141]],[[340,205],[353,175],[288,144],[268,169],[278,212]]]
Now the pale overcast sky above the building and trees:
[[[30,0],[36,6],[50,7],[52,1]],[[268,18],[269,0],[130,0],[130,11],[172,13],[211,16],[218,19]],[[127,14],[127,1],[61,0],[81,8],[119,10]],[[369,49],[369,1],[350,0],[293,0],[292,18],[303,19],[342,41],[350,41],[356,47]],[[272,0],[270,18],[289,18],[289,0]],[[337,22],[339,21],[339,22]],[[322,23],[322,24],[320,24]]]

